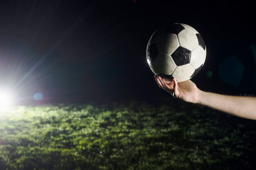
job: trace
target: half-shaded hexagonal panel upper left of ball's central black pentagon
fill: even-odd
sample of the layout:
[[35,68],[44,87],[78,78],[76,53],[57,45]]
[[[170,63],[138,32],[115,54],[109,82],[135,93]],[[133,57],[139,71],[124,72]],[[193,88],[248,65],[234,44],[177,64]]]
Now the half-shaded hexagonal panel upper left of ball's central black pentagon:
[[164,33],[157,41],[157,48],[161,54],[172,54],[179,46],[176,34]]

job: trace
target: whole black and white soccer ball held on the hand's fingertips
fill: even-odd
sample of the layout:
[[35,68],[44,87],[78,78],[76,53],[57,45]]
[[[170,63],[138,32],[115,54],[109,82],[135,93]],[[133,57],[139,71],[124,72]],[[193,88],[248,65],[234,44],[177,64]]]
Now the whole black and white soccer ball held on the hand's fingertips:
[[146,57],[154,74],[182,82],[201,70],[206,59],[206,46],[201,35],[191,26],[169,24],[150,37]]

